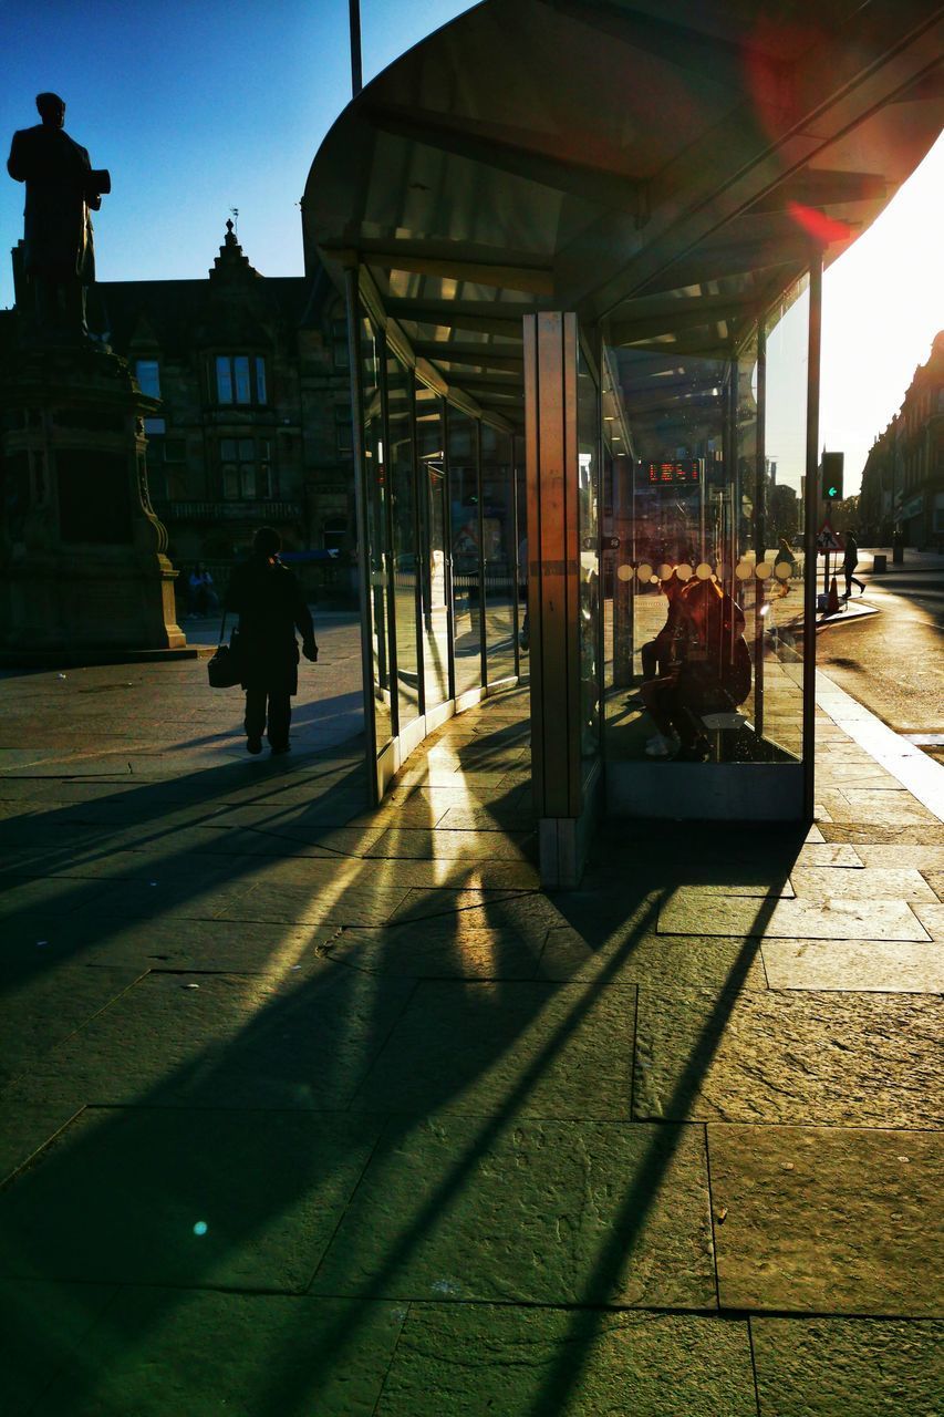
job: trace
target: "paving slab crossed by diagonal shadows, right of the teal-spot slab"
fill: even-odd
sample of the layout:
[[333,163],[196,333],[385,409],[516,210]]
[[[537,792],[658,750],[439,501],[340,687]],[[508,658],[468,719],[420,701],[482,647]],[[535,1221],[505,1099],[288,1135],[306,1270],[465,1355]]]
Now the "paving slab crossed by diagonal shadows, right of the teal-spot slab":
[[388,1132],[312,1292],[713,1308],[703,1129],[448,1117]]

